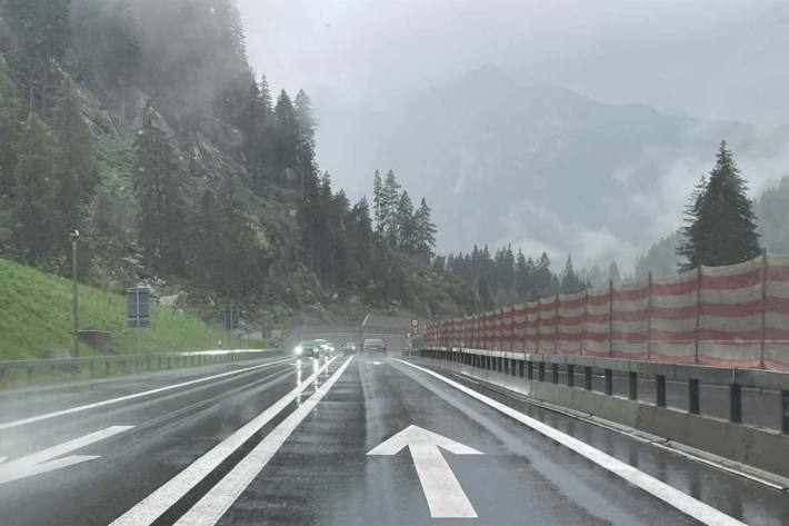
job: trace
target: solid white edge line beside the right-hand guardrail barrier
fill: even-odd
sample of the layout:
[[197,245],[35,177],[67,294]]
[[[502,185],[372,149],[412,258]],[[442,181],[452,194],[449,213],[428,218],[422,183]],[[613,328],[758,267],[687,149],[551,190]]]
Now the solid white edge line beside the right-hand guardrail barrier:
[[736,518],[726,515],[725,513],[713,508],[712,506],[709,506],[700,500],[695,499],[693,497],[680,492],[679,489],[672,486],[669,486],[668,484],[661,480],[658,480],[657,478],[650,475],[647,475],[643,472],[639,472],[635,467],[625,464],[623,462],[618,460],[612,456],[601,451],[600,449],[597,449],[577,438],[571,437],[570,435],[567,435],[558,429],[542,424],[541,421],[536,420],[535,418],[526,416],[520,411],[507,407],[506,405],[492,398],[477,393],[476,390],[470,389],[461,384],[458,384],[457,381],[451,380],[445,376],[433,373],[432,370],[397,358],[394,359],[403,365],[407,365],[408,367],[412,367],[415,369],[421,370],[422,373],[427,373],[428,375],[438,378],[439,380],[446,384],[449,384],[456,389],[463,391],[472,398],[476,398],[477,400],[487,404],[493,409],[503,413],[510,418],[515,418],[521,424],[531,427],[536,431],[541,433],[548,438],[551,438],[552,440],[556,440],[557,443],[568,447],[577,454],[588,458],[598,466],[601,466],[613,473],[615,475],[620,476],[633,486],[637,486],[649,493],[650,495],[658,497],[660,500],[673,506],[675,508],[689,515],[696,520],[699,520],[700,523],[710,526],[745,526],[745,523],[741,523]]

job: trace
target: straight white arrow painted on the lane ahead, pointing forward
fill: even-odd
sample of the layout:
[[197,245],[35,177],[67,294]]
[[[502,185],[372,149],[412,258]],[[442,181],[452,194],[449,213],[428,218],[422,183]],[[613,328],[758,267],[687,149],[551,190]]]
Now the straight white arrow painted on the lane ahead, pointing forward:
[[477,517],[477,512],[439,447],[456,455],[485,455],[483,453],[421,427],[409,426],[373,447],[368,455],[397,455],[405,447],[411,450],[413,465],[432,517]]

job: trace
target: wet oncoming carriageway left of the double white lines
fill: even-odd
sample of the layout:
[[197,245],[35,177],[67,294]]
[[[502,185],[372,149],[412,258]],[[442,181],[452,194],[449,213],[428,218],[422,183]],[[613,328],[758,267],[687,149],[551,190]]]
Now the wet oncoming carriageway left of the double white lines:
[[[298,397],[286,400],[282,397],[297,385],[307,396],[313,388],[313,383],[307,380],[318,368],[317,360],[279,358],[237,364],[224,371],[216,367],[207,368],[202,374],[191,370],[186,378],[183,371],[152,375],[152,379],[140,379],[136,393],[189,384],[0,428],[0,456],[8,457],[0,464],[0,508],[3,514],[0,523],[107,525],[271,405],[281,401],[286,409],[296,406]],[[196,381],[201,378],[211,379]],[[102,400],[114,400],[117,395],[128,396],[134,390],[130,386],[134,380],[123,378],[117,384],[117,389],[101,388],[109,396]],[[73,403],[76,398],[79,396],[71,396],[69,400]],[[86,393],[80,401],[96,404],[97,399],[94,394]],[[51,403],[47,406],[54,408]],[[80,407],[69,404],[58,409]],[[19,411],[17,414],[19,416]],[[34,415],[41,416],[40,413]],[[2,424],[9,421],[2,420]],[[13,474],[13,468],[18,472],[16,475],[24,475],[34,472],[37,465],[28,462],[9,468],[10,463],[19,464],[20,459],[41,455],[51,447],[118,428],[121,429],[119,433],[73,451],[63,451],[52,458],[33,457],[33,460],[42,460],[39,465],[47,467],[47,462],[69,455],[98,458],[3,482],[9,472]],[[6,522],[7,517],[12,520]]]

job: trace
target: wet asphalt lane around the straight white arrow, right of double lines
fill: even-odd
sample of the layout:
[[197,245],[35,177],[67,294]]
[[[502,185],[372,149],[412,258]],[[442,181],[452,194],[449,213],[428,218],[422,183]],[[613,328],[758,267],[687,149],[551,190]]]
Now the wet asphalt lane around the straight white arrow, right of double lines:
[[[749,524],[789,518],[786,494],[563,415],[522,409],[695,495],[702,510],[708,503]],[[457,388],[376,358],[349,367],[218,524],[435,524],[412,455],[368,455],[409,426],[482,453],[445,454],[478,517],[458,524],[697,524]]]

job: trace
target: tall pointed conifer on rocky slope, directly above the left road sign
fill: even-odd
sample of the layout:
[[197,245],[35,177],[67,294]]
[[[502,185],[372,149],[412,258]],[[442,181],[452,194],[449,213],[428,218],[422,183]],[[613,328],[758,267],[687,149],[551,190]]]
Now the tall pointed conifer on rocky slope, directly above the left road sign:
[[180,272],[186,255],[186,172],[178,150],[154,122],[150,101],[143,110],[134,151],[140,245],[153,265]]

